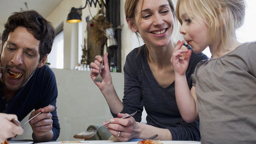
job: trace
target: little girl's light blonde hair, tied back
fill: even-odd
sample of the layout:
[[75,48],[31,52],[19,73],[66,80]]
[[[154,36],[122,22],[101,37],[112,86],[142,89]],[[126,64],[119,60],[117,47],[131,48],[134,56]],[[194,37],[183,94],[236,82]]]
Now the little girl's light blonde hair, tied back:
[[209,27],[211,38],[220,32],[221,43],[227,46],[230,37],[244,23],[246,3],[244,0],[178,0],[177,19],[182,24],[179,8],[185,9],[191,19],[202,18]]

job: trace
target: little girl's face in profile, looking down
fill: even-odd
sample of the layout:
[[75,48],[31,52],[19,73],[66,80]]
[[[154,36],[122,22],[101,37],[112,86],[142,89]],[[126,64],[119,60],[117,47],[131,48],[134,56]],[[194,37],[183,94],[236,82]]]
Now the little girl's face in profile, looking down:
[[184,7],[179,7],[179,17],[182,21],[180,33],[184,35],[185,41],[193,48],[193,52],[202,52],[207,46],[213,44],[208,26],[202,18],[191,19],[186,14]]

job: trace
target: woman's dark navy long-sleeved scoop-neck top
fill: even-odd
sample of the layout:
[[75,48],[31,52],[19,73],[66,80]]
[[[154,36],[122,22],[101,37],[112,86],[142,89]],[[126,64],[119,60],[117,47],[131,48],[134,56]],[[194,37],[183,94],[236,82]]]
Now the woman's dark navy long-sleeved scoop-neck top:
[[[189,49],[191,47],[189,46]],[[124,65],[124,98],[121,113],[131,114],[138,111],[133,117],[141,121],[143,106],[147,112],[147,124],[170,130],[172,140],[200,140],[199,120],[186,123],[179,112],[174,82],[168,87],[162,87],[155,79],[146,57],[145,45],[132,50],[126,57]],[[208,59],[203,53],[192,52],[189,66],[186,71],[189,88],[192,87],[191,75],[201,60]],[[170,60],[168,60],[170,61]],[[111,112],[112,113],[112,112]],[[113,117],[117,117],[112,113]]]

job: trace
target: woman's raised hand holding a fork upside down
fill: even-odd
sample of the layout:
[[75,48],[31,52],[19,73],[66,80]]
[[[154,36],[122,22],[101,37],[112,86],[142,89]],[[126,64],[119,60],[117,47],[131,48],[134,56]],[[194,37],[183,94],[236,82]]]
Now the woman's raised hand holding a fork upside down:
[[110,75],[110,70],[108,66],[108,53],[104,54],[104,61],[101,68],[101,77],[102,82],[95,82],[94,79],[97,77],[100,69],[100,62],[102,62],[102,57],[100,55],[95,56],[94,62],[90,64],[92,70],[91,70],[91,79],[93,82],[99,87],[100,90],[102,90],[106,85],[112,84],[112,78]]

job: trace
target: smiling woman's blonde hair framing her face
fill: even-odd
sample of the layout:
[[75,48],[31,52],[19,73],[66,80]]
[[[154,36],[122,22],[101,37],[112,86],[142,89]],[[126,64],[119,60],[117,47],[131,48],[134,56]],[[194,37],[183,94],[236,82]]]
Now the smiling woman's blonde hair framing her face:
[[[142,10],[144,0],[126,0],[125,1],[125,5],[124,5],[125,19],[130,18],[132,23],[135,22],[135,11],[136,11],[136,7],[137,7],[137,4],[139,3],[139,1],[141,1],[141,3],[142,3],[142,6],[140,8]],[[168,1],[169,5],[170,5],[171,11],[172,11],[173,16],[175,18],[176,17],[175,5],[172,2],[172,0],[167,0],[167,1]],[[140,10],[140,12],[141,12],[141,10]],[[138,20],[137,24],[139,23],[140,19],[141,19],[141,17],[139,17],[139,20]],[[138,41],[139,41],[139,34],[138,34],[138,32],[136,32],[135,34],[136,34],[136,36],[138,38]]]

